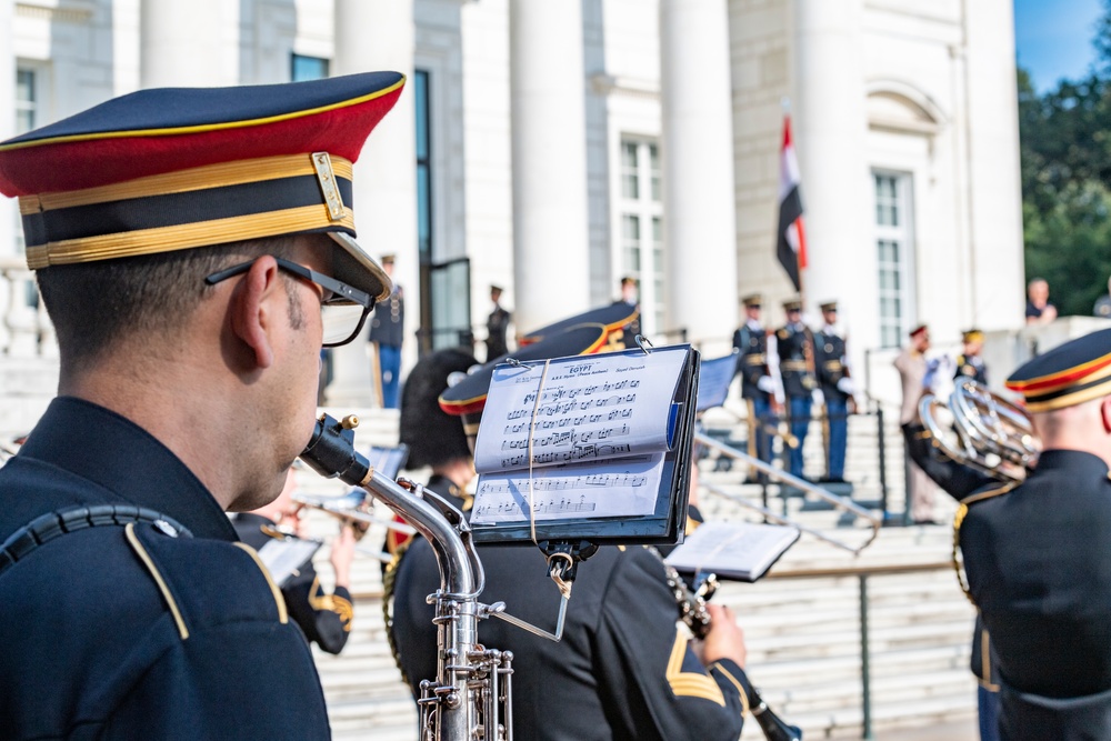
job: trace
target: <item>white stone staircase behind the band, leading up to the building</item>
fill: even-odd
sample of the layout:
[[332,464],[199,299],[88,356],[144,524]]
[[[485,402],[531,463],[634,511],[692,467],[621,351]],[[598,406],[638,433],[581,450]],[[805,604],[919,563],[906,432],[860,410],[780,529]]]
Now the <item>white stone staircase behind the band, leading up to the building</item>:
[[[391,442],[391,429],[396,428],[391,428],[390,418],[372,411],[361,417],[362,443]],[[850,454],[849,478],[857,480],[865,477],[862,469],[869,461],[874,467],[878,448],[874,418],[861,420],[867,423],[854,424],[850,432],[850,450],[854,452]],[[891,465],[894,459],[901,467],[900,438],[888,439],[888,463]],[[807,452],[811,453],[809,442]],[[808,458],[808,472],[812,462]],[[704,483],[759,500],[759,488],[741,482],[742,471],[712,469],[713,461],[703,461]],[[306,491],[344,490],[309,471],[302,471],[299,481]],[[901,477],[895,483],[900,489],[891,495],[891,502],[901,511]],[[867,490],[867,483],[862,488]],[[711,519],[749,518],[735,503],[704,491],[701,507]],[[772,509],[778,508],[777,502]],[[953,509],[948,498],[939,500],[942,520]],[[788,510],[807,527],[845,541],[861,542],[869,533],[861,524],[839,527],[842,518],[838,512],[804,509],[801,499],[790,499]],[[322,537],[334,531],[333,521],[319,512],[311,514],[310,527]],[[376,531],[368,534],[367,548],[377,547],[381,537]],[[804,534],[768,578],[755,584],[725,583],[714,600],[729,604],[739,615],[748,645],[749,672],[777,713],[802,728],[808,739],[861,738],[861,578],[855,573],[800,573],[932,564],[931,570],[867,578],[871,728],[882,739],[899,729],[970,719],[975,713],[975,683],[968,669],[973,610],[948,565],[951,544],[952,530],[948,525],[884,528],[871,547],[853,557]],[[327,578],[331,572],[327,552],[319,558],[320,572]],[[583,568],[590,568],[590,562]],[[377,561],[357,559],[353,592],[356,619],[348,647],[339,657],[317,654],[334,737],[340,741],[414,739],[417,711],[384,638]],[[761,738],[757,723],[745,724],[742,739]]]

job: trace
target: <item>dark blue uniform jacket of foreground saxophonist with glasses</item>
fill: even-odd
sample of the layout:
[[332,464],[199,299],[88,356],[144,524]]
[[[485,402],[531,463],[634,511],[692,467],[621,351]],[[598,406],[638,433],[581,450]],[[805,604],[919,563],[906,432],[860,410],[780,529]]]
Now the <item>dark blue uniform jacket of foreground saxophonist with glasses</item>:
[[0,542],[106,503],[193,537],[88,528],[0,572],[0,738],[328,738],[304,637],[208,490],[122,417],[56,399],[0,468]]

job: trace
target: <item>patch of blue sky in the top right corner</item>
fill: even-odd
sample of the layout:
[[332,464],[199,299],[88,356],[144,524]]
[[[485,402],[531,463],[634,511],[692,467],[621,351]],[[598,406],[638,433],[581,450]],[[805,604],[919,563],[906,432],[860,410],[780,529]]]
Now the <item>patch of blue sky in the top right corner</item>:
[[1014,0],[1019,64],[1030,71],[1039,92],[1088,71],[1095,60],[1092,33],[1102,7],[1101,0]]

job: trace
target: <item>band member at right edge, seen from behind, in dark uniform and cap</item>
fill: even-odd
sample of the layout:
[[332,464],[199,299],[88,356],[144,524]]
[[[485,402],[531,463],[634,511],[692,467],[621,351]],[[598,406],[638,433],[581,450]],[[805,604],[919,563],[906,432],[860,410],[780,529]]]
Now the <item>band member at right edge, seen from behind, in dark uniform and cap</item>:
[[998,660],[1002,739],[1111,738],[1109,368],[1111,330],[1019,368],[1007,388],[1041,439],[1037,465],[1000,483],[950,464],[943,482],[961,499],[954,527]]

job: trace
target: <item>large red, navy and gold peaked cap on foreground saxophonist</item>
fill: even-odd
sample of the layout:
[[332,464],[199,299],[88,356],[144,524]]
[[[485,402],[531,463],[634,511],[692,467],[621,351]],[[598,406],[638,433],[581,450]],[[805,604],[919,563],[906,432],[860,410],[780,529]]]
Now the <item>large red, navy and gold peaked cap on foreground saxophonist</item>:
[[161,88],[0,143],[32,270],[247,239],[328,233],[334,277],[378,298],[390,280],[354,242],[352,162],[404,76]]

